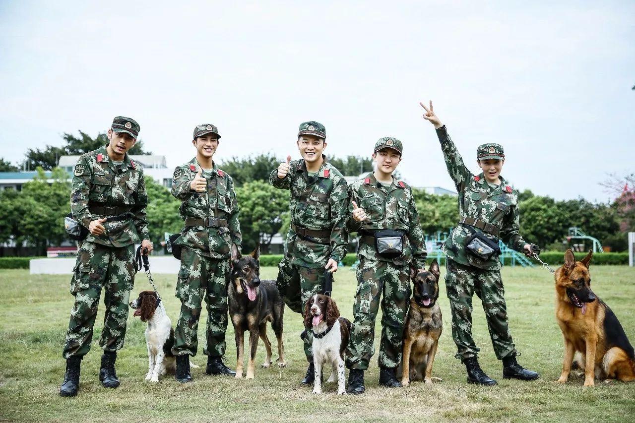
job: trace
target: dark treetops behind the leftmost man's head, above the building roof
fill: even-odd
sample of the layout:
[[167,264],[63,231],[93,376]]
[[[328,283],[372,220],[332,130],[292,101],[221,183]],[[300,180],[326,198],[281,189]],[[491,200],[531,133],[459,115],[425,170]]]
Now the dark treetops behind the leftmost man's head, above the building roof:
[[[102,145],[108,144],[108,137],[105,133],[98,133],[97,137],[91,138],[90,135],[79,131],[79,137],[70,133],[64,133],[62,137],[64,145],[55,147],[46,145],[43,150],[29,149],[25,154],[25,166],[27,169],[36,169],[38,166],[44,170],[51,170],[62,156],[72,156],[84,154],[93,150],[97,150]],[[152,154],[144,151],[143,142],[137,141],[135,145],[128,151],[128,154]]]

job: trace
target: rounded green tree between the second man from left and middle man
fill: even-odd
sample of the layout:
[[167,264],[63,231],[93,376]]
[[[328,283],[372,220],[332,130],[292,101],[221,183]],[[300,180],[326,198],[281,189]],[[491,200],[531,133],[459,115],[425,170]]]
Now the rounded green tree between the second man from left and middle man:
[[269,251],[271,238],[283,224],[281,218],[289,209],[289,191],[276,189],[262,180],[246,182],[236,188],[243,233],[243,252],[249,252],[261,241],[264,252]]

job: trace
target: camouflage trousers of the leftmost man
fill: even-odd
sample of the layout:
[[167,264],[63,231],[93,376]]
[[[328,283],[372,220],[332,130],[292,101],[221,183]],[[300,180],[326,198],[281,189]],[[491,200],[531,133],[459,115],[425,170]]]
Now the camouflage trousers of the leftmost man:
[[123,347],[128,319],[128,300],[135,283],[135,245],[121,248],[95,243],[79,243],[77,262],[70,279],[75,304],[70,311],[64,358],[84,356],[90,351],[97,305],[105,288],[104,328],[100,347],[117,351]]

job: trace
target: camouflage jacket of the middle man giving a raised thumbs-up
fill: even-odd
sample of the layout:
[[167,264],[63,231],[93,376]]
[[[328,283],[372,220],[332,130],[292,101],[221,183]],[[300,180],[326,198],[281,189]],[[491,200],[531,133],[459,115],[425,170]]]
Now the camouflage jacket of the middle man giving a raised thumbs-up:
[[330,231],[323,243],[314,238],[302,238],[291,227],[286,237],[284,257],[303,267],[324,267],[329,258],[340,262],[346,255],[348,234],[344,231],[344,216],[348,209],[346,180],[342,173],[326,161],[315,177],[309,177],[304,159],[291,161],[289,173],[280,179],[277,169],[269,175],[269,182],[279,189],[289,189],[291,223],[305,229]]

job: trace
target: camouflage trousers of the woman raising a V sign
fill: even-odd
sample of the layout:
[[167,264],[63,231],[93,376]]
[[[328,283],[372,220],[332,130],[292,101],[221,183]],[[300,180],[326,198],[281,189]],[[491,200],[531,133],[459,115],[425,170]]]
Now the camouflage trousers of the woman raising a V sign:
[[452,312],[452,338],[457,344],[456,358],[463,360],[480,351],[472,338],[472,296],[481,299],[491,344],[498,359],[516,352],[507,327],[505,290],[500,271],[486,271],[447,260],[445,286]]

